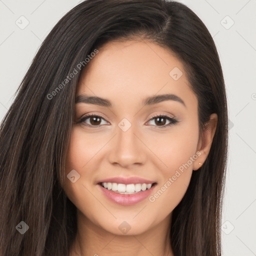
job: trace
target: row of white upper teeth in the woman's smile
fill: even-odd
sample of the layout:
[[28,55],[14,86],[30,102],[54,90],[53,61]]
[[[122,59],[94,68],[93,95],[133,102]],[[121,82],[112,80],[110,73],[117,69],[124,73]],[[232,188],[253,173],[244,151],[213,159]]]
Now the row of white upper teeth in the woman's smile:
[[101,185],[104,188],[107,188],[108,190],[115,191],[116,193],[121,194],[133,194],[137,193],[139,191],[144,191],[146,189],[149,189],[152,184],[146,184],[146,183],[137,183],[137,184],[122,184],[122,183],[111,183],[111,182],[103,182]]

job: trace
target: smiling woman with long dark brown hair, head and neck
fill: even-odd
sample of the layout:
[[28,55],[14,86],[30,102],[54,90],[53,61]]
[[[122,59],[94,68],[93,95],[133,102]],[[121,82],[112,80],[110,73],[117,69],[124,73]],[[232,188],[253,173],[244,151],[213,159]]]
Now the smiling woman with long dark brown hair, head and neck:
[[0,126],[1,255],[221,255],[227,106],[185,5],[86,0]]

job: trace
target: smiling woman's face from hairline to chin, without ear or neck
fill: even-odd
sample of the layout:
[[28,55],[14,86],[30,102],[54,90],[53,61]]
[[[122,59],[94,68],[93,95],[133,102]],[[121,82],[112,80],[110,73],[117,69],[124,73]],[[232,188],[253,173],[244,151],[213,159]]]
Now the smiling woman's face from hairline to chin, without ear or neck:
[[73,182],[65,178],[64,190],[79,216],[114,234],[167,221],[203,162],[182,63],[154,43],[108,42],[87,63],[76,97],[65,168]]

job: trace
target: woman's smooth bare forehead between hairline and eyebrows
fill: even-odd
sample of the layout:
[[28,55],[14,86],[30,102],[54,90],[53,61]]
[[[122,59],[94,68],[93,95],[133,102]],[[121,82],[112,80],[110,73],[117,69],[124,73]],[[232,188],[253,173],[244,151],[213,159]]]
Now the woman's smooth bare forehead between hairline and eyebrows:
[[98,48],[81,74],[76,95],[82,93],[127,104],[164,93],[173,93],[188,105],[197,101],[175,54],[155,43],[135,40],[110,41]]

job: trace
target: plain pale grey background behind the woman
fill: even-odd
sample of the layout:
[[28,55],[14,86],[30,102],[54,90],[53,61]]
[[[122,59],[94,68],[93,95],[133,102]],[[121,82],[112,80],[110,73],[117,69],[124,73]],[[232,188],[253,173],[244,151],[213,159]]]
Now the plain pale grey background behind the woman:
[[[256,0],[180,2],[208,27],[225,78],[229,156],[222,219],[223,256],[256,255]],[[77,3],[0,0],[0,120],[42,40]]]

